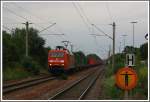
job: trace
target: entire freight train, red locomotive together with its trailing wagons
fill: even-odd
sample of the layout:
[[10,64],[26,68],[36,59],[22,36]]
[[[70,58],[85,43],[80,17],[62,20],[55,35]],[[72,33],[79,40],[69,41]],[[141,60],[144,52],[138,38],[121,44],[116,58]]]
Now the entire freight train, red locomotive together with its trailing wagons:
[[[96,64],[96,60],[88,58],[87,61],[82,56],[77,56],[65,49],[63,46],[57,46],[56,49],[48,52],[48,68],[51,73],[61,73],[73,70],[78,66],[77,62],[84,64]],[[87,62],[87,63],[86,63]]]

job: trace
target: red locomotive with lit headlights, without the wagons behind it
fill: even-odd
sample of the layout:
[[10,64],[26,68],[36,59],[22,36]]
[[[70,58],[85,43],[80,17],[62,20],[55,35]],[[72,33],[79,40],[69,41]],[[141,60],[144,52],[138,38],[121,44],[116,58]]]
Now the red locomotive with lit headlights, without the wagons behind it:
[[61,73],[74,67],[74,56],[63,46],[48,52],[48,66],[51,73]]

